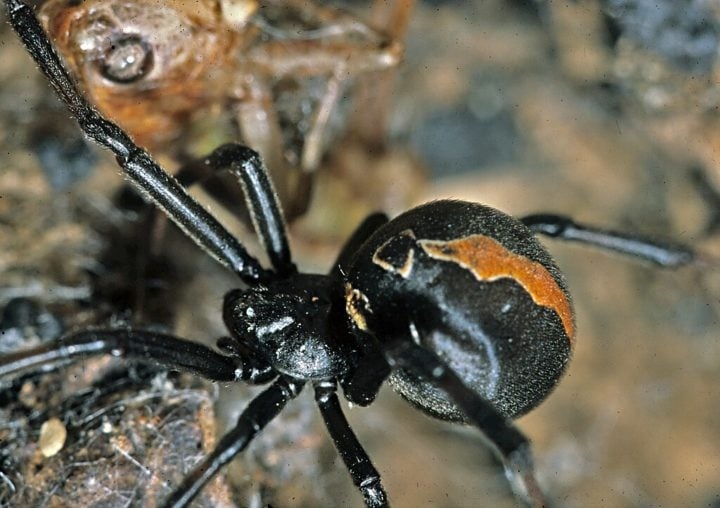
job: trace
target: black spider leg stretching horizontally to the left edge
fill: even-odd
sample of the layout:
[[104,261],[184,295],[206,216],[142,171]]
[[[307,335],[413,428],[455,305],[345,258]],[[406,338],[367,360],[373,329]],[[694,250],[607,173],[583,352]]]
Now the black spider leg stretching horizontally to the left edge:
[[211,381],[235,381],[242,367],[228,357],[172,335],[138,330],[87,330],[49,344],[3,355],[0,378],[28,370],[51,370],[76,358],[121,356],[191,372]]

